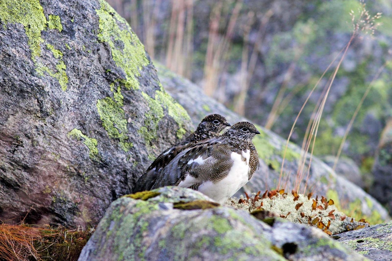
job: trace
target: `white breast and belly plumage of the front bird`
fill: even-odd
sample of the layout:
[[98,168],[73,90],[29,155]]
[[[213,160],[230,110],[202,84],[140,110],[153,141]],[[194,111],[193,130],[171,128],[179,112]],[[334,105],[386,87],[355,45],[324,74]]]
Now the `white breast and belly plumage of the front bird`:
[[[243,156],[246,161],[243,161],[241,156]],[[233,164],[226,178],[218,181],[217,183],[212,183],[212,181],[203,182],[198,188],[198,191],[221,204],[233,196],[248,182],[250,159],[249,150],[242,151],[241,154],[232,152],[230,154],[230,158],[232,159]]]

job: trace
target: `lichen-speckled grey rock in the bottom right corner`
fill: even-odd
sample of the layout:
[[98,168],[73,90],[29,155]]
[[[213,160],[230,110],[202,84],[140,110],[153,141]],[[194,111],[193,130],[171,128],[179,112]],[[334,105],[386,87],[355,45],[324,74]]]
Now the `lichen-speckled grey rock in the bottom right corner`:
[[359,254],[373,260],[391,260],[392,221],[333,236]]

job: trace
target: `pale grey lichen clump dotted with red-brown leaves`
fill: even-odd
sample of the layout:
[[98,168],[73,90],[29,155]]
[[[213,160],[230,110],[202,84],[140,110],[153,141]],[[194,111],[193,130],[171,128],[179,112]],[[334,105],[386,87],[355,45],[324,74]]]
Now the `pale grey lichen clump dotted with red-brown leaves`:
[[[294,201],[293,194],[277,193],[272,197],[261,198],[262,196],[260,196],[260,199],[256,197],[256,201],[254,201],[255,196],[254,193],[249,199],[243,196],[240,199],[230,198],[226,201],[226,204],[249,212],[268,210],[290,222],[318,227],[327,234],[338,234],[368,226],[368,223],[357,222],[351,217],[347,217],[333,205],[333,201],[328,204],[325,198],[322,200],[318,198],[316,198],[317,200],[314,198],[308,199],[307,196],[298,194],[298,199]],[[316,203],[314,203],[315,201]],[[330,225],[328,226],[329,221]]]

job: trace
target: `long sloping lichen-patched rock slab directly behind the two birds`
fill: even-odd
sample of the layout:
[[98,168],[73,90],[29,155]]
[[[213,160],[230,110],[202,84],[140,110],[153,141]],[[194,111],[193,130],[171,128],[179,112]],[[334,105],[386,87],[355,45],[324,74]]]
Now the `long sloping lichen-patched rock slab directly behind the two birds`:
[[[209,113],[224,115],[229,122],[249,121],[203,94],[201,89],[189,80],[181,78],[159,63],[154,64],[158,68],[158,75],[165,90],[187,110],[194,124],[197,124],[205,114]],[[286,190],[294,188],[296,173],[300,164],[301,149],[289,143],[285,153],[286,140],[260,126],[258,126],[258,129],[261,135],[257,135],[253,139],[253,143],[260,156],[260,169],[256,170],[252,179],[239,190],[235,195],[236,197],[239,197],[244,191],[250,194],[259,190],[276,188],[281,173],[283,156],[285,156],[285,163],[281,185],[285,185]],[[305,164],[306,171],[309,158],[308,155]],[[353,217],[365,218],[370,224],[390,219],[388,212],[378,201],[358,186],[347,181],[347,179],[338,176],[336,172],[316,157],[312,158],[309,177],[305,172],[301,179],[301,190],[299,192],[303,192],[305,184],[307,184],[307,188],[310,186],[314,196],[332,198],[339,210],[350,213]]]

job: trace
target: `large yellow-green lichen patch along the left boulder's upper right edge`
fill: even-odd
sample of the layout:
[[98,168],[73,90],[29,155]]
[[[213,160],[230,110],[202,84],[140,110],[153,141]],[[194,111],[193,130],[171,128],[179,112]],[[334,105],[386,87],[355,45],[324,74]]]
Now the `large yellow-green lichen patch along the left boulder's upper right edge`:
[[[138,89],[139,70],[150,63],[145,55],[144,46],[125,19],[118,15],[107,2],[100,0],[100,5],[101,8],[96,10],[100,29],[97,35],[98,40],[109,44],[114,62],[124,70],[125,78],[132,88]],[[122,44],[118,45],[119,41]]]

